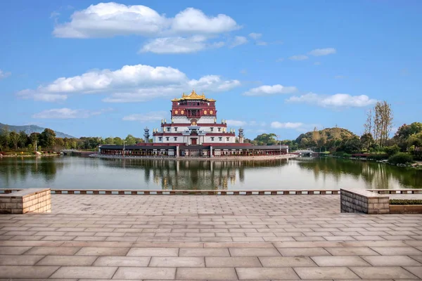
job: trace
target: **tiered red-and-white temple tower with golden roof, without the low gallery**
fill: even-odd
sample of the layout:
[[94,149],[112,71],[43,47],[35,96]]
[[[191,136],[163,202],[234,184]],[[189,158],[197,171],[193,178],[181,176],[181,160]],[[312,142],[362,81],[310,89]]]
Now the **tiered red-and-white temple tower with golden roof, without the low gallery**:
[[236,133],[227,131],[227,122],[217,123],[215,102],[195,91],[174,98],[170,110],[172,122],[161,122],[162,131],[153,132],[153,142],[184,145],[235,143]]

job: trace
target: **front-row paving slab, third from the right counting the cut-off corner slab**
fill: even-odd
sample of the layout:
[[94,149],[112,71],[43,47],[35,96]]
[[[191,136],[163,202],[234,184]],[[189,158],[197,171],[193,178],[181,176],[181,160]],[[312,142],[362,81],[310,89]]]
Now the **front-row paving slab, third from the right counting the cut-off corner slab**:
[[294,268],[294,270],[301,279],[359,279],[346,267]]

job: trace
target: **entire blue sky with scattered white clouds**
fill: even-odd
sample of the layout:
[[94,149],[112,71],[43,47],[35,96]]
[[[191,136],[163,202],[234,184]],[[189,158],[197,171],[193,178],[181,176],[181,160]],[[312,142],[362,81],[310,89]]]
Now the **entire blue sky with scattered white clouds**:
[[247,138],[339,126],[378,100],[421,122],[422,1],[3,1],[0,122],[143,135],[205,93]]

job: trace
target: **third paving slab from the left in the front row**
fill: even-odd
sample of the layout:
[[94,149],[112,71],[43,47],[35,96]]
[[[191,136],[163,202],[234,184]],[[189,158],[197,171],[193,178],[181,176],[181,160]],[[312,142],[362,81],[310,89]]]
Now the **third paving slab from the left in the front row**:
[[151,279],[151,280],[174,280],[176,268],[139,268],[121,267],[113,276],[114,279]]

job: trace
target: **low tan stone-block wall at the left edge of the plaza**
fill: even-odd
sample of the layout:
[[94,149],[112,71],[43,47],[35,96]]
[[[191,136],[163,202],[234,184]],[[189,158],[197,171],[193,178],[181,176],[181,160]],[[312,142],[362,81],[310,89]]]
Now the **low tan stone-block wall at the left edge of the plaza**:
[[27,188],[0,194],[0,214],[46,213],[51,211],[49,188]]

